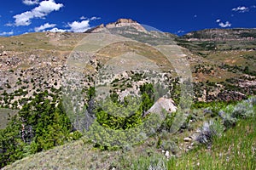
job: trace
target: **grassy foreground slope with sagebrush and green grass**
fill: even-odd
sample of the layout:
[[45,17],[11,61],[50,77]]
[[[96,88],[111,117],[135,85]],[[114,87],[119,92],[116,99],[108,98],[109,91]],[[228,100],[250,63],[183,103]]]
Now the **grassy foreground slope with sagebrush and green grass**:
[[[256,133],[253,130],[256,126],[255,101],[254,98],[253,118],[239,121],[236,127],[230,129],[225,127],[225,132],[218,123],[214,124],[215,127],[203,130],[202,122],[207,122],[211,118],[206,118],[201,111],[194,110],[194,118],[189,122],[189,127],[183,128],[183,132],[174,134],[162,132],[132,148],[102,151],[96,149],[88,139],[83,138],[52,150],[27,156],[3,169],[146,170],[150,167],[160,169],[230,169],[231,167],[254,169],[256,165]],[[243,104],[245,103],[243,102]],[[205,123],[203,127],[207,128],[207,124]],[[212,141],[209,144],[201,145],[196,138],[199,134],[206,132],[212,135],[213,139],[208,136]],[[241,133],[245,135],[241,135]],[[192,138],[188,138],[188,136]]]

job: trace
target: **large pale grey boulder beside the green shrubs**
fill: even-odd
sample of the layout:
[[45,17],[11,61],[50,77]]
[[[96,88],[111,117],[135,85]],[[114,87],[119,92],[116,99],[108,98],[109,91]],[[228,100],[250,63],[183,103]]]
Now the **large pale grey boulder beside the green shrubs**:
[[162,116],[161,113],[163,110],[167,111],[168,113],[172,113],[177,111],[177,107],[174,105],[172,99],[160,98],[154,103],[154,105],[152,105],[152,107],[144,114],[144,116],[147,116],[149,113],[156,113]]

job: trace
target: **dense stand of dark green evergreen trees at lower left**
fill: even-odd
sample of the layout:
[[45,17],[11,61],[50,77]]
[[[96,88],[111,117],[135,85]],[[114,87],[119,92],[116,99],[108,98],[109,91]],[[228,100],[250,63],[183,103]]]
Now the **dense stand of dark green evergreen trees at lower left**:
[[0,167],[70,139],[79,139],[81,134],[71,133],[72,129],[61,99],[47,91],[36,94],[32,102],[24,105],[8,126],[0,130]]

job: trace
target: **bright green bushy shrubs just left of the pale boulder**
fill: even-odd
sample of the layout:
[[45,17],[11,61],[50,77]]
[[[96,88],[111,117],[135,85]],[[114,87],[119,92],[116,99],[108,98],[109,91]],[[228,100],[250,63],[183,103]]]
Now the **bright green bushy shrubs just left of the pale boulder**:
[[[95,89],[94,89],[95,93]],[[110,97],[101,101],[96,109],[96,121],[103,127],[112,129],[128,129],[137,127],[143,122],[143,113],[154,105],[154,87],[145,83],[140,87],[142,99],[126,96],[124,101],[119,101],[119,95],[110,94]],[[138,105],[138,102],[141,104]]]

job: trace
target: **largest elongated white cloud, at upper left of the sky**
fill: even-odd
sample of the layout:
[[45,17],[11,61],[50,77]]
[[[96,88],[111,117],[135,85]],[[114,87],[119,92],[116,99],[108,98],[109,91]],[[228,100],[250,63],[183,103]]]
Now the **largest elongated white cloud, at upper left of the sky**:
[[55,0],[42,1],[38,7],[33,8],[31,11],[26,11],[21,14],[16,14],[15,26],[29,26],[33,18],[44,19],[49,13],[58,11],[63,7],[62,3],[55,3]]

